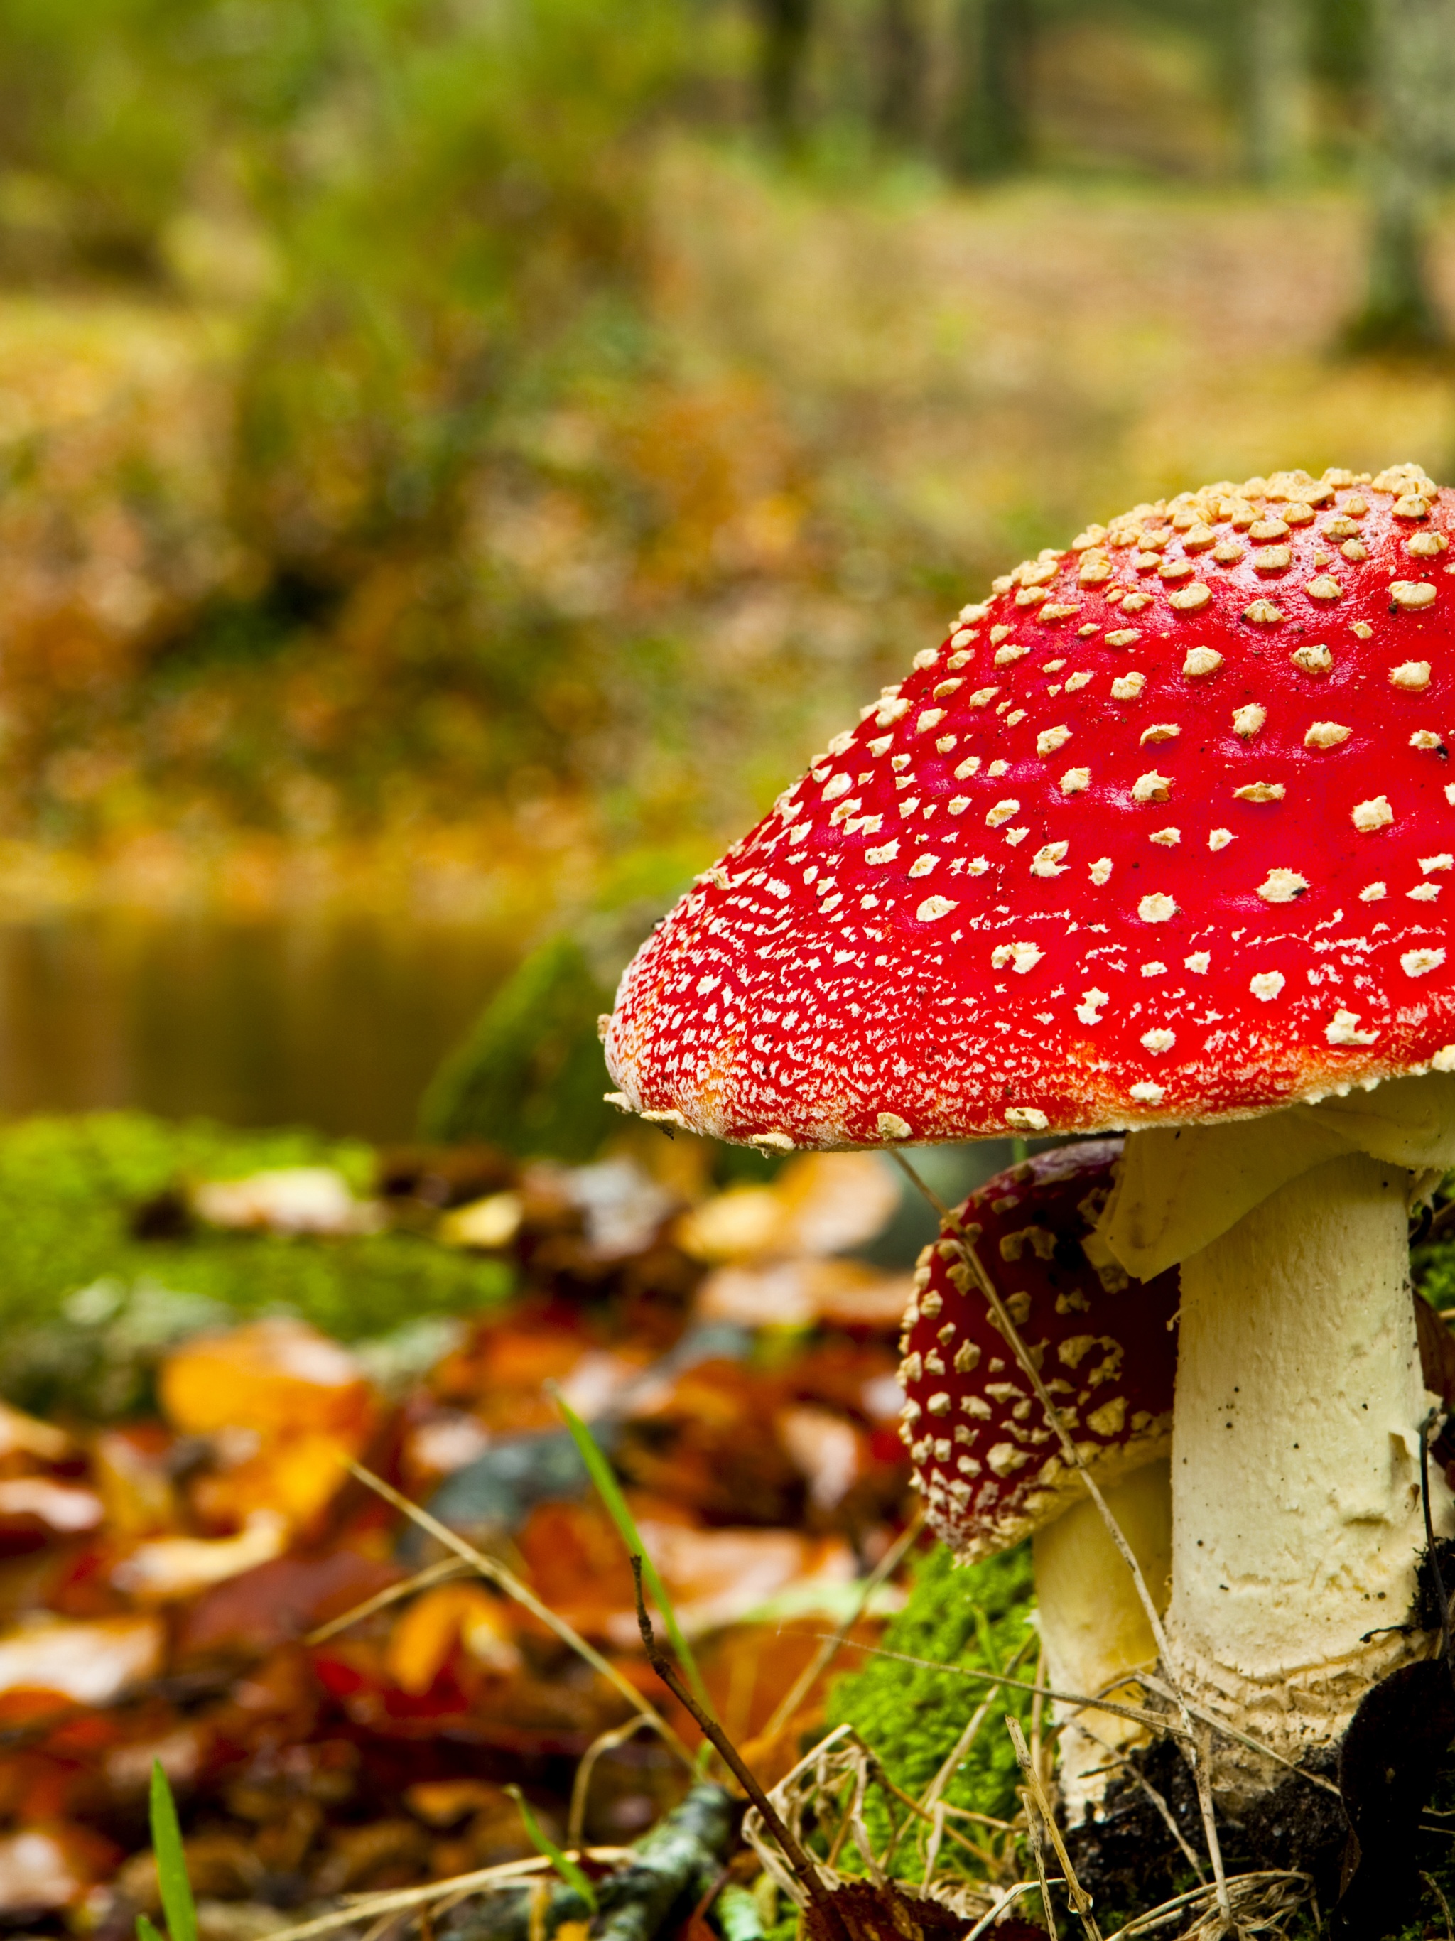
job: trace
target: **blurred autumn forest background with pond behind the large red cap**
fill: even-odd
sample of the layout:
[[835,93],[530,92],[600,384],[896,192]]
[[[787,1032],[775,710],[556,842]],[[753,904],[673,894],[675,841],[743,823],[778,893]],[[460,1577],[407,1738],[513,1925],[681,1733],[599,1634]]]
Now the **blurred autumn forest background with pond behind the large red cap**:
[[1451,0],[0,0],[0,1108],[398,1135],[1026,549],[1449,470],[1451,99]]

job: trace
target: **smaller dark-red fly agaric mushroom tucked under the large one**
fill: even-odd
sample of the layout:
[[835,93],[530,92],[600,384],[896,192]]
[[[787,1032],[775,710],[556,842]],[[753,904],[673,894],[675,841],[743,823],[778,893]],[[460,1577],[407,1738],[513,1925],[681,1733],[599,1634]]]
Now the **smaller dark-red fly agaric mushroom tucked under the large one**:
[[[1038,1359],[1160,1611],[1172,1568],[1178,1277],[1131,1281],[1096,1244],[1119,1151],[1119,1139],[1061,1145],[978,1188],[920,1256],[900,1343],[900,1434],[929,1522],[960,1563],[1032,1537],[1046,1669],[1061,1693],[1116,1693],[1121,1673],[1156,1663],[1156,1640],[1131,1572],[1077,1471],[1061,1462],[956,1233],[976,1244]],[[1108,1751],[1141,1743],[1145,1731],[1075,1704],[1057,1702],[1055,1714],[1061,1805],[1075,1823],[1106,1788]]]

